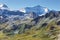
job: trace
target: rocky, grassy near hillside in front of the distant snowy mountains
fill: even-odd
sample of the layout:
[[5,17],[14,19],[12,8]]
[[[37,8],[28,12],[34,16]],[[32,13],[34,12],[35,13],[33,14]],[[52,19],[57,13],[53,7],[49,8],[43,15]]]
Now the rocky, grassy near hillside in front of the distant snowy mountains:
[[31,20],[12,22],[0,24],[0,40],[60,40],[59,11],[50,11]]

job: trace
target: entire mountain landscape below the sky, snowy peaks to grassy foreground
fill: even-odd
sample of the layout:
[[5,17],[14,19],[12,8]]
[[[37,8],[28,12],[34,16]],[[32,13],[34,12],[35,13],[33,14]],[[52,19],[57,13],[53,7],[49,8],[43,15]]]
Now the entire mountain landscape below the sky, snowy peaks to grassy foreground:
[[58,40],[59,26],[60,11],[40,5],[10,10],[0,4],[0,34],[7,36],[1,34],[3,40]]

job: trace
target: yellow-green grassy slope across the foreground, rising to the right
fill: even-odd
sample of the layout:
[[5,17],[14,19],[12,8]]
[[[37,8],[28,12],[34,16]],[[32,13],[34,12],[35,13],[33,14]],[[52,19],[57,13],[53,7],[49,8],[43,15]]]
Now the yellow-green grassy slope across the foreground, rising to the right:
[[[50,27],[54,26],[54,30],[50,30]],[[55,40],[60,28],[55,24],[55,21],[51,21],[46,27],[41,29],[35,29],[34,27],[26,31],[24,34],[15,34],[6,36],[0,32],[0,40]]]

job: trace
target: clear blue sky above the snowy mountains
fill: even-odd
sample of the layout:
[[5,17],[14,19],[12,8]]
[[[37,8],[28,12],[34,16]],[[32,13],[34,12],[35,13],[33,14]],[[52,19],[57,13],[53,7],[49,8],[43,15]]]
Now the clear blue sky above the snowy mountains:
[[11,9],[41,5],[49,9],[60,10],[60,0],[0,0]]

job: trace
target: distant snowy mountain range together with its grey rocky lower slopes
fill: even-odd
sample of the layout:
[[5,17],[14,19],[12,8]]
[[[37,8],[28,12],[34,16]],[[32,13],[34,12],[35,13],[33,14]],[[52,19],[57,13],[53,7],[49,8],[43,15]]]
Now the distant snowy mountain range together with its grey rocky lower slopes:
[[[26,20],[34,19],[49,12],[49,9],[42,6],[26,7],[20,10],[10,10],[5,4],[0,4],[0,19],[3,20]],[[4,21],[4,20],[3,20]]]

